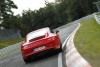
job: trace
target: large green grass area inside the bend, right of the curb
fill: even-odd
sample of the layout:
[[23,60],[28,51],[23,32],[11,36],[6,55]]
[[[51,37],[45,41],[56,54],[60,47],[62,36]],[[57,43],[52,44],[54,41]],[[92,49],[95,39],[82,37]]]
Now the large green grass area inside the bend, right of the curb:
[[100,25],[94,18],[83,21],[74,38],[79,53],[93,66],[100,67]]

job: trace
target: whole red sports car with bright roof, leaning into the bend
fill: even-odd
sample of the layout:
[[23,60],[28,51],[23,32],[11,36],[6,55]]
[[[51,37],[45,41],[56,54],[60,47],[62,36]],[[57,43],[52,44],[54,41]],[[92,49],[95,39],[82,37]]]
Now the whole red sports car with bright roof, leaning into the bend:
[[60,38],[57,32],[51,33],[47,27],[27,34],[25,42],[21,45],[24,61],[27,63],[30,57],[41,56],[53,50],[61,50]]

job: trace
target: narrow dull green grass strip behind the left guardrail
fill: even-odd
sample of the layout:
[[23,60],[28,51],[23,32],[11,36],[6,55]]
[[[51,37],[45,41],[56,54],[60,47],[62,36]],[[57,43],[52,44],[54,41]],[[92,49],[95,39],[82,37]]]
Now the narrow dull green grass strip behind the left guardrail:
[[10,46],[10,45],[13,45],[13,44],[18,43],[18,42],[23,41],[23,40],[24,40],[24,38],[9,39],[9,40],[0,41],[0,49],[7,47],[7,46]]

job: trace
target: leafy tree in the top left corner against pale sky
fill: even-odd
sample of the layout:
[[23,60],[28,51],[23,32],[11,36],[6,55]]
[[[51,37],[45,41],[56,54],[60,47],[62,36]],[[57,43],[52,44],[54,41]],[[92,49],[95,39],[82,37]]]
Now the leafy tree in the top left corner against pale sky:
[[0,21],[2,21],[3,25],[6,23],[7,18],[13,15],[12,8],[17,9],[12,0],[0,0]]

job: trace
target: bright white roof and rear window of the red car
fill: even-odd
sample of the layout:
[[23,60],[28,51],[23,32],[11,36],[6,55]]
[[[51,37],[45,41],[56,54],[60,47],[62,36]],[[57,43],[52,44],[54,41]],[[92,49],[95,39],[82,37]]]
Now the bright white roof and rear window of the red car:
[[30,33],[27,34],[26,38],[27,38],[27,40],[31,40],[31,39],[34,39],[36,37],[43,36],[47,32],[48,33],[50,32],[49,27],[38,29],[38,30],[35,30],[33,32],[30,32]]

